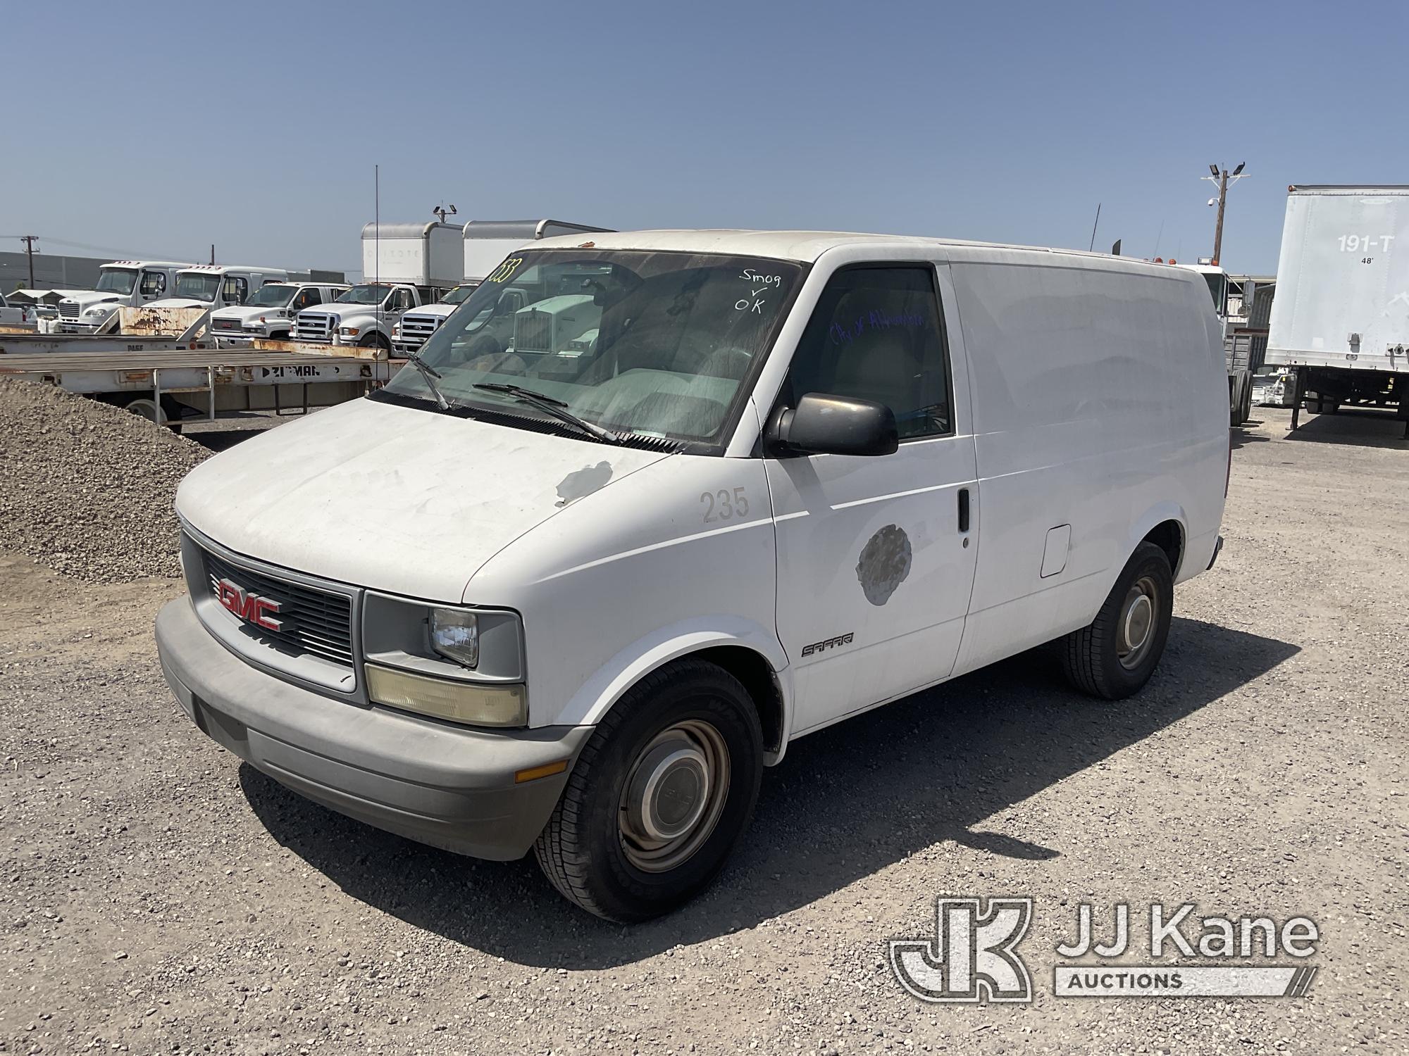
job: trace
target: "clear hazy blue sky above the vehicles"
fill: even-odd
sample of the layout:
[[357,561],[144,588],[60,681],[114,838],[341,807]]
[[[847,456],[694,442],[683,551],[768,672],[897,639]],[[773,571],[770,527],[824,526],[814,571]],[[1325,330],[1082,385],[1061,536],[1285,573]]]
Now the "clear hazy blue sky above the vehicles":
[[[0,232],[359,266],[382,218],[944,235],[1277,266],[1409,183],[1409,4],[3,4]],[[63,46],[54,46],[62,38]],[[17,132],[15,118],[25,127]],[[3,245],[20,249],[18,242]],[[101,255],[101,253],[93,253]]]

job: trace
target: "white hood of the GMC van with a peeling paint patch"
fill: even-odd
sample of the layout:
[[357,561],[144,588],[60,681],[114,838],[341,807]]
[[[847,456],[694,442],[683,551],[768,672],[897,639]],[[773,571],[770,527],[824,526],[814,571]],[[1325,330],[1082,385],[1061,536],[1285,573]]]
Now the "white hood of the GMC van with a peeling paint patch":
[[662,458],[364,398],[207,459],[176,511],[235,553],[458,604],[500,549]]

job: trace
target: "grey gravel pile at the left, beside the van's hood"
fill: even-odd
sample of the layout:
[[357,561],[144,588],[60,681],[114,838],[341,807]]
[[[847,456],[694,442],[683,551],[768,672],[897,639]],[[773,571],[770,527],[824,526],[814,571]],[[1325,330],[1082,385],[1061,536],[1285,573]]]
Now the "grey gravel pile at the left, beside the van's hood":
[[118,407],[0,379],[0,549],[89,582],[179,576],[176,484],[209,455]]

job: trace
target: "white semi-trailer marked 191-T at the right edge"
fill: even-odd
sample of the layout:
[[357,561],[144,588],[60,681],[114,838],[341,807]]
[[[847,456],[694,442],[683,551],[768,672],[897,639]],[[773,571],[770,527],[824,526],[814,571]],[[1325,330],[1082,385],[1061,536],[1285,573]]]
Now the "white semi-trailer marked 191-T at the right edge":
[[1409,436],[1409,186],[1291,186],[1267,363],[1302,404],[1396,407]]

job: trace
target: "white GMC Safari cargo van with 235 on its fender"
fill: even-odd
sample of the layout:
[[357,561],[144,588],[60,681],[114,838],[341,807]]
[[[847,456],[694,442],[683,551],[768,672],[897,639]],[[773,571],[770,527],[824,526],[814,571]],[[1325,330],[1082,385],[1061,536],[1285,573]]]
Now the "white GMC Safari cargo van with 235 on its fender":
[[1181,268],[544,239],[385,389],[186,477],[162,667],[310,800],[643,919],[799,736],[1053,639],[1140,690],[1219,551],[1227,422]]

